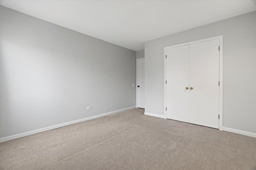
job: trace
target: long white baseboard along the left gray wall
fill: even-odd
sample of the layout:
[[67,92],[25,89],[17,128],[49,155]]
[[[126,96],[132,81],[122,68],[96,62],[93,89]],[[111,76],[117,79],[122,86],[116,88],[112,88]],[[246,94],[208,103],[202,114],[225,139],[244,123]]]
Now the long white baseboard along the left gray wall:
[[111,111],[111,112],[108,112],[108,113],[103,113],[103,114],[96,115],[96,116],[92,116],[92,117],[86,117],[86,118],[83,118],[83,119],[78,119],[78,120],[74,120],[74,121],[69,121],[69,122],[66,122],[66,123],[58,124],[58,125],[53,125],[53,126],[49,126],[49,127],[44,127],[44,128],[42,128],[42,129],[36,129],[36,130],[34,130],[34,131],[28,131],[28,132],[20,133],[20,134],[17,134],[17,135],[12,135],[12,136],[8,136],[8,137],[3,137],[3,138],[0,138],[0,143],[5,142],[5,141],[10,141],[10,140],[13,140],[13,139],[17,139],[17,138],[20,138],[20,137],[25,137],[25,136],[29,136],[29,135],[34,135],[34,134],[36,134],[36,133],[40,133],[40,132],[44,132],[44,131],[49,131],[49,130],[56,129],[56,128],[59,128],[59,127],[63,127],[63,126],[67,126],[67,125],[72,125],[72,124],[79,123],[79,122],[82,122],[82,121],[86,121],[86,120],[90,120],[90,119],[95,119],[95,118],[103,117],[103,116],[107,116],[107,115],[112,115],[112,114],[114,114],[114,113],[118,113],[118,112],[121,112],[121,111],[130,110],[130,109],[133,109],[133,108],[136,108],[136,106],[128,107],[128,108],[120,109],[120,110],[116,110],[116,111]]

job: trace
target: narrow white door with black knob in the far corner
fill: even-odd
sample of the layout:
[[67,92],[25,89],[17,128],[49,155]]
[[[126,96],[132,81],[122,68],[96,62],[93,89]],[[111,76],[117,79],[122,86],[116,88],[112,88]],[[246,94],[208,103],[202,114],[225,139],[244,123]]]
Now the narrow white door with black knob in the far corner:
[[136,72],[137,72],[137,107],[145,108],[145,64],[144,58],[137,59]]

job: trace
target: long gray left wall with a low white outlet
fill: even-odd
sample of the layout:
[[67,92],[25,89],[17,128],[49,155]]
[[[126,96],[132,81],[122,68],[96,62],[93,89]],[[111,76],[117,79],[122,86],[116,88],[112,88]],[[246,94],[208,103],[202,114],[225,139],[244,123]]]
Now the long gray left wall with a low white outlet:
[[135,51],[3,6],[0,48],[1,138],[136,106]]

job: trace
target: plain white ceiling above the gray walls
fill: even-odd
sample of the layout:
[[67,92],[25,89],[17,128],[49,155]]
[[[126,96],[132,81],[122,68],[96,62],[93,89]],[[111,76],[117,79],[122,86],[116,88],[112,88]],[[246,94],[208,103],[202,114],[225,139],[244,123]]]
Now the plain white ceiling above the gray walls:
[[0,0],[0,5],[139,51],[144,42],[256,10],[255,0]]

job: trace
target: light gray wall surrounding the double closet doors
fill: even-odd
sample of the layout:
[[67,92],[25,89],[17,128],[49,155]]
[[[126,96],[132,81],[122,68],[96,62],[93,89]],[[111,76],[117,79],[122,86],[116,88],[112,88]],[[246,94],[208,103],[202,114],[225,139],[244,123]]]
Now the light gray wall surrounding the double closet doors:
[[256,12],[145,43],[145,112],[164,115],[164,47],[223,35],[223,127],[256,133]]

